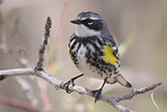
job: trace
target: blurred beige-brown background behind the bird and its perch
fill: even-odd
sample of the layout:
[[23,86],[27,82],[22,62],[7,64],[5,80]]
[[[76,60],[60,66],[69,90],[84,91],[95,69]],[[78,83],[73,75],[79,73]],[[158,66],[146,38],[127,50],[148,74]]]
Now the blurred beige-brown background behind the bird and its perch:
[[[0,0],[0,69],[36,65],[46,18],[50,16],[51,38],[44,69],[64,81],[79,75],[67,51],[68,40],[74,32],[70,20],[88,10],[99,13],[107,21],[123,51],[121,72],[133,88],[163,82],[153,91],[160,110],[153,104],[151,92],[121,104],[138,112],[167,112],[166,0]],[[102,81],[82,77],[76,83],[98,89]],[[119,96],[131,90],[119,84],[106,85],[103,94]],[[23,106],[29,110],[21,109]],[[28,76],[0,82],[0,111],[118,112],[106,103],[94,104],[93,98],[55,90],[46,81]]]

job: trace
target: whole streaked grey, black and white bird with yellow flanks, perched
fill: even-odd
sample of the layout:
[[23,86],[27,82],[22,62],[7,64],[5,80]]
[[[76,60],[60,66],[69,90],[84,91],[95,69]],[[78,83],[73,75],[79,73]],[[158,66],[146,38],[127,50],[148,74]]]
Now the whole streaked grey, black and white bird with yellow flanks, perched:
[[74,85],[74,80],[83,75],[104,80],[99,90],[92,91],[95,102],[99,99],[105,83],[118,82],[125,87],[132,87],[119,73],[121,64],[118,48],[103,17],[85,11],[71,23],[75,24],[75,33],[69,40],[68,51],[74,64],[83,74],[68,81],[66,91],[70,93],[69,84]]

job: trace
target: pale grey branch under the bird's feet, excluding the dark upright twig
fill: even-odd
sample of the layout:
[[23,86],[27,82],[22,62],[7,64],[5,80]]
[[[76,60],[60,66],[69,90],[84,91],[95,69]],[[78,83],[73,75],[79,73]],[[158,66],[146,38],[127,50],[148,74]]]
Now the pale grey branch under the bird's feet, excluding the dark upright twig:
[[[7,78],[7,77],[11,77],[11,76],[20,76],[20,75],[26,75],[26,76],[35,75],[35,76],[38,76],[38,77],[48,81],[56,89],[64,89],[64,90],[66,89],[64,87],[65,83],[62,80],[59,80],[59,79],[49,75],[45,71],[37,71],[37,70],[34,70],[32,68],[0,70],[0,77],[4,76],[5,78]],[[118,109],[121,112],[134,112],[134,111],[128,109],[127,107],[122,106],[121,104],[119,104],[119,102],[123,101],[123,100],[129,100],[129,99],[131,99],[134,96],[139,95],[139,94],[144,94],[148,91],[155,89],[156,87],[160,86],[161,84],[162,84],[161,82],[158,82],[158,83],[146,86],[146,87],[141,88],[141,89],[134,89],[134,90],[132,90],[132,92],[130,92],[128,95],[125,95],[125,96],[110,97],[110,96],[101,95],[100,100],[112,105],[113,107],[115,107],[116,109]],[[85,94],[85,95],[94,97],[92,92],[91,92],[92,90],[78,86],[78,85],[70,86],[69,89],[72,91],[75,91],[79,94]]]

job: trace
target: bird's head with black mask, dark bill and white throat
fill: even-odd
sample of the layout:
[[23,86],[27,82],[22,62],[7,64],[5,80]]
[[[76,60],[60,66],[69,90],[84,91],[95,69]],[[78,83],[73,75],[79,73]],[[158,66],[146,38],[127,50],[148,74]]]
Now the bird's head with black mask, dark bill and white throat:
[[75,34],[79,37],[100,35],[103,30],[108,30],[107,24],[99,14],[85,11],[78,14],[77,19],[72,20],[75,24]]

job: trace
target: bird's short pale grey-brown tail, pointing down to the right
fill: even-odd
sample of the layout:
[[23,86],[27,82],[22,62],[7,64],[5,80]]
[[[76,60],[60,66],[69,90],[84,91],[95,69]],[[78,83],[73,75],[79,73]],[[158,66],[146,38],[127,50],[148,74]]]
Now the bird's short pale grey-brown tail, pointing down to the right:
[[130,84],[130,82],[128,82],[121,74],[116,75],[114,79],[116,80],[116,82],[118,82],[122,86],[129,87],[129,88],[132,87],[132,84]]

